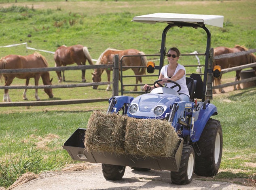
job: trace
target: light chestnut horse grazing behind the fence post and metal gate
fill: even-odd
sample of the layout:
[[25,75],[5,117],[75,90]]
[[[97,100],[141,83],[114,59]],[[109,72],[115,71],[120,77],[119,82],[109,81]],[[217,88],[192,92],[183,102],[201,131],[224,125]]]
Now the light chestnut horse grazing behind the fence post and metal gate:
[[[109,62],[113,62],[114,55],[118,54],[119,56],[119,62],[122,56],[124,55],[145,55],[143,52],[135,49],[128,49],[128,50],[116,50],[116,49],[106,49],[98,58],[96,65],[99,64],[109,64]],[[125,57],[123,58],[122,66],[146,66],[147,65],[147,58],[145,56],[131,56],[131,57]],[[127,70],[123,69],[124,70]],[[93,82],[100,82],[102,72],[105,69],[96,68],[94,69],[94,72],[92,73],[92,79]],[[146,68],[132,68],[135,75],[141,75],[146,73]],[[108,75],[108,82],[110,82],[110,70],[106,69],[107,75]],[[120,74],[119,74],[119,80],[120,80]],[[133,91],[137,91],[137,84],[138,81],[142,84],[142,77],[138,76],[136,77],[136,86],[134,87]],[[93,89],[97,89],[98,86],[93,86]],[[108,85],[107,91],[111,90],[110,84]]]

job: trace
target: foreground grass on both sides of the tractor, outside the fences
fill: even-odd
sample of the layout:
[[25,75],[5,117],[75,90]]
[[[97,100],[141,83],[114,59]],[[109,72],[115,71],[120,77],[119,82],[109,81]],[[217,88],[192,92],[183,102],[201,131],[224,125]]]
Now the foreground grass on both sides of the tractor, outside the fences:
[[[256,163],[255,103],[252,101],[255,98],[256,88],[250,88],[218,95],[211,101],[218,108],[218,115],[213,118],[220,120],[223,130],[223,156],[216,179],[255,180],[256,168],[248,165]],[[90,114],[91,111],[86,110],[16,110],[0,114],[0,186],[11,185],[27,171],[58,170],[74,163],[61,145],[77,128],[87,126]],[[37,167],[28,167],[27,163]]]

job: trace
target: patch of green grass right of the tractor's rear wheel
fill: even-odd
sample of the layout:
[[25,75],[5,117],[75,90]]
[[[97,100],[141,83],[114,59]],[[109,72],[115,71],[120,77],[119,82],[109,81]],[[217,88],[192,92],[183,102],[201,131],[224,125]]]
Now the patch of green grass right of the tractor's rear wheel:
[[[223,131],[222,163],[217,179],[248,178],[255,180],[256,135],[254,122],[256,88],[233,91],[215,97],[211,103],[218,108]],[[249,163],[249,164],[248,164]]]

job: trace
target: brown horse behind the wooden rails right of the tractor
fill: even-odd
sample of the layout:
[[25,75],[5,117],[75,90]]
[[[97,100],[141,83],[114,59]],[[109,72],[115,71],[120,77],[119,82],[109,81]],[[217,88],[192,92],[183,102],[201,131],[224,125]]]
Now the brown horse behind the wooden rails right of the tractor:
[[[244,46],[240,46],[240,45],[235,45],[234,48],[228,48],[228,47],[221,46],[221,47],[214,48],[214,56],[218,56],[221,54],[242,52],[242,51],[247,51],[247,50],[248,50],[247,48],[245,48]],[[254,63],[254,62],[256,62],[256,56],[253,53],[251,53],[251,54],[246,54],[246,55],[237,56],[237,57],[233,57],[233,58],[223,58],[223,59],[214,60],[213,66],[220,65],[222,69],[225,69],[225,68],[229,68],[229,67],[240,66],[240,65],[245,65],[245,64]],[[253,69],[255,70],[255,74],[256,74],[256,67],[253,67]],[[240,72],[241,72],[241,70],[236,71],[235,81],[239,81]],[[214,78],[215,85],[221,84],[220,79],[221,79],[221,76],[219,78]],[[237,90],[237,89],[241,89],[240,84],[238,84],[237,88],[236,88],[236,85],[234,85],[234,90]],[[221,93],[225,93],[225,91],[222,88],[220,88],[219,91]],[[216,91],[213,90],[213,93],[216,93]]]

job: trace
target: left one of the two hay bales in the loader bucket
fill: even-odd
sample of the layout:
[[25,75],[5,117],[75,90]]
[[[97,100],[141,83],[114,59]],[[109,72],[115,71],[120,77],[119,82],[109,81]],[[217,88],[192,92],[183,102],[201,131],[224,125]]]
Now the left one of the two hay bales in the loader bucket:
[[125,153],[125,126],[127,116],[94,111],[89,118],[85,133],[87,151]]

